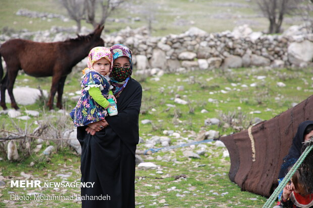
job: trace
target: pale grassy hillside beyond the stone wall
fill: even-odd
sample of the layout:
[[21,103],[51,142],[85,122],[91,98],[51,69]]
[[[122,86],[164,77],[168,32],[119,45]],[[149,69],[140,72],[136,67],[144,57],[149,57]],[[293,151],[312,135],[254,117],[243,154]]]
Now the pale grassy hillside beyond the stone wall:
[[[235,26],[248,24],[254,31],[265,31],[268,28],[268,20],[255,9],[253,1],[213,1],[213,0],[132,0],[124,8],[116,10],[112,18],[118,18],[120,22],[106,23],[106,31],[113,32],[130,26],[137,28],[147,26],[148,19],[152,19],[152,35],[164,36],[170,33],[179,34],[190,27],[195,26],[207,32],[221,32],[232,30]],[[0,8],[0,29],[9,28],[14,30],[28,29],[30,31],[47,30],[51,26],[72,26],[74,21],[63,22],[54,18],[42,20],[40,18],[28,18],[17,16],[19,9],[30,11],[47,12],[66,16],[66,10],[53,0],[2,0]],[[133,21],[139,17],[140,21]],[[290,17],[286,16],[285,19]],[[300,18],[298,18],[300,19]],[[299,24],[299,21],[283,23],[283,28],[288,28],[290,22]],[[83,26],[91,27],[84,21]]]

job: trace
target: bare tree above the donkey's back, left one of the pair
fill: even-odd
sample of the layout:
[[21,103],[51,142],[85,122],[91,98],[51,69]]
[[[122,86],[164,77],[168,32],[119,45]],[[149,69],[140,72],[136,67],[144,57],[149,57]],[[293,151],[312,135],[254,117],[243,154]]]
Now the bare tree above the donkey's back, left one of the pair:
[[80,32],[81,29],[81,20],[84,20],[85,14],[85,1],[86,0],[60,0],[62,5],[68,12],[68,15],[72,20],[76,22],[77,25],[77,33]]

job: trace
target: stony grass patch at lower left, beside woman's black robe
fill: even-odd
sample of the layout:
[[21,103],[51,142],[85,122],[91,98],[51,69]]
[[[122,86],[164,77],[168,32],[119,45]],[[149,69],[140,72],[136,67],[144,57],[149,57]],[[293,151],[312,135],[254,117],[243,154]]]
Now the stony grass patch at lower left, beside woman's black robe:
[[[63,195],[71,195],[80,193],[80,190],[71,187],[67,189],[61,187],[59,189],[43,187],[44,182],[61,182],[64,180],[69,182],[80,181],[80,174],[78,172],[80,158],[73,154],[72,151],[70,151],[68,148],[54,152],[55,153],[51,155],[50,158],[44,157],[42,154],[40,154],[33,155],[32,157],[29,157],[22,162],[2,161],[0,172],[2,172],[3,176],[9,176],[10,180],[6,181],[7,191],[0,192],[3,194],[1,196],[2,201],[9,200],[9,202],[7,202],[4,206],[1,206],[2,204],[0,203],[0,207],[31,207],[34,205],[32,202],[36,202],[36,200],[11,200],[11,193],[18,194],[19,196],[27,195],[31,192],[46,195],[60,195],[61,193]],[[30,167],[29,164],[32,161],[35,161],[35,166]],[[42,188],[11,188],[11,180],[25,180],[25,178],[21,177],[21,172],[31,175],[31,178],[28,180],[40,180],[42,183]],[[61,177],[57,176],[57,174],[60,173],[70,174],[71,176],[67,179],[62,179]],[[8,191],[10,191],[10,193]],[[33,196],[30,196],[30,198],[33,199]],[[38,207],[73,207],[72,205],[73,201],[62,201],[60,204],[58,201],[45,200],[44,203],[40,203]],[[79,205],[77,205],[77,207],[79,207]]]

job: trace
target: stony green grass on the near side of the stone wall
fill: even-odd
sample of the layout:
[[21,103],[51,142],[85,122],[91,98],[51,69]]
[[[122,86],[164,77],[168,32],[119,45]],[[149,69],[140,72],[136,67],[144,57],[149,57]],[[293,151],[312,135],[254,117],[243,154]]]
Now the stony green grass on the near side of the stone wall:
[[[149,140],[151,136],[164,136],[163,130],[173,130],[181,134],[180,138],[172,138],[172,145],[178,142],[193,140],[200,130],[218,130],[220,135],[235,132],[232,127],[212,125],[205,126],[206,118],[220,118],[222,114],[230,114],[236,111],[235,115],[245,115],[244,121],[252,120],[255,117],[267,120],[287,110],[293,103],[301,102],[313,92],[311,85],[310,69],[268,69],[268,68],[238,68],[222,72],[214,71],[193,71],[180,74],[165,74],[156,81],[155,78],[144,78],[135,76],[141,80],[143,87],[142,108],[139,121],[140,136],[143,140]],[[265,79],[258,79],[259,76],[266,76]],[[28,79],[26,82],[25,79]],[[70,101],[71,92],[79,89],[79,73],[72,73],[65,86],[64,104],[67,111],[72,109],[75,102]],[[278,87],[277,82],[283,82],[286,87]],[[255,84],[255,87],[250,87]],[[20,75],[17,79],[18,86],[38,87],[48,90],[50,79],[35,79]],[[235,86],[236,85],[236,86]],[[248,87],[243,87],[247,85]],[[177,91],[178,86],[184,86],[183,91]],[[227,93],[222,93],[222,90]],[[175,97],[180,97],[189,102],[188,105],[180,105],[174,102]],[[218,102],[210,103],[209,98]],[[168,107],[172,104],[176,107]],[[56,112],[47,112],[44,102],[29,106],[20,106],[21,112],[25,109],[40,111],[38,118],[30,121],[18,121],[13,119],[21,129],[29,126],[32,121],[63,120],[68,128],[72,123],[70,118],[65,116],[61,119]],[[241,110],[238,110],[240,107]],[[208,113],[201,113],[206,109]],[[57,110],[57,109],[56,109]],[[260,111],[259,114],[251,113]],[[1,114],[1,125],[7,130],[16,131],[7,115]],[[150,119],[150,124],[142,124],[144,119]],[[244,123],[244,122],[243,122]],[[56,124],[57,125],[57,124]],[[37,125],[28,127],[34,129]],[[32,132],[29,130],[29,132]],[[53,144],[59,147],[54,154],[47,158],[41,152],[48,145]],[[32,143],[31,149],[36,146]],[[30,179],[46,182],[80,180],[80,160],[74,151],[69,150],[62,144],[44,142],[41,151],[32,153],[31,157],[22,158],[20,162],[9,162],[6,155],[2,153],[3,160],[0,161],[0,177],[6,182],[0,189],[0,206],[3,207],[79,207],[80,202],[73,201],[36,201],[36,200],[10,200],[10,194],[27,194],[39,192],[43,194],[77,194],[77,188],[10,188],[11,180],[25,179],[21,172],[31,175]],[[200,159],[188,159],[182,154],[185,150],[196,151],[198,146],[180,148],[173,151],[157,152],[152,155],[142,156],[145,162],[153,162],[159,166],[157,170],[141,170],[136,168],[136,203],[138,207],[261,207],[266,198],[240,191],[240,188],[228,178],[230,159],[223,158],[225,148],[205,144],[207,147],[205,155]],[[156,147],[160,147],[157,145]],[[138,145],[138,150],[144,151],[147,148],[144,144]],[[152,157],[151,157],[152,156]],[[161,157],[161,158],[160,158]],[[47,162],[46,162],[47,161]],[[30,163],[34,166],[30,167]],[[68,178],[61,178],[57,174],[68,174]]]

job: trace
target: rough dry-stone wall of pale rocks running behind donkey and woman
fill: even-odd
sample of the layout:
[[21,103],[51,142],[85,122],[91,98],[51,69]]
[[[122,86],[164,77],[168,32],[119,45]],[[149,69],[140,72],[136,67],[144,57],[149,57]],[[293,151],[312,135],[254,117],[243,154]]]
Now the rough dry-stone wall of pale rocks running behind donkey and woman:
[[[38,42],[75,38],[75,28],[53,27],[49,31],[0,34],[0,43],[11,38]],[[82,28],[82,33],[90,31]],[[233,31],[206,33],[190,28],[185,33],[151,37],[145,27],[129,27],[112,34],[102,33],[107,47],[122,43],[131,48],[137,70],[176,72],[200,68],[250,66],[308,67],[313,65],[313,34],[304,26],[292,26],[281,35],[253,32],[246,25]],[[85,61],[82,63],[85,65]]]

